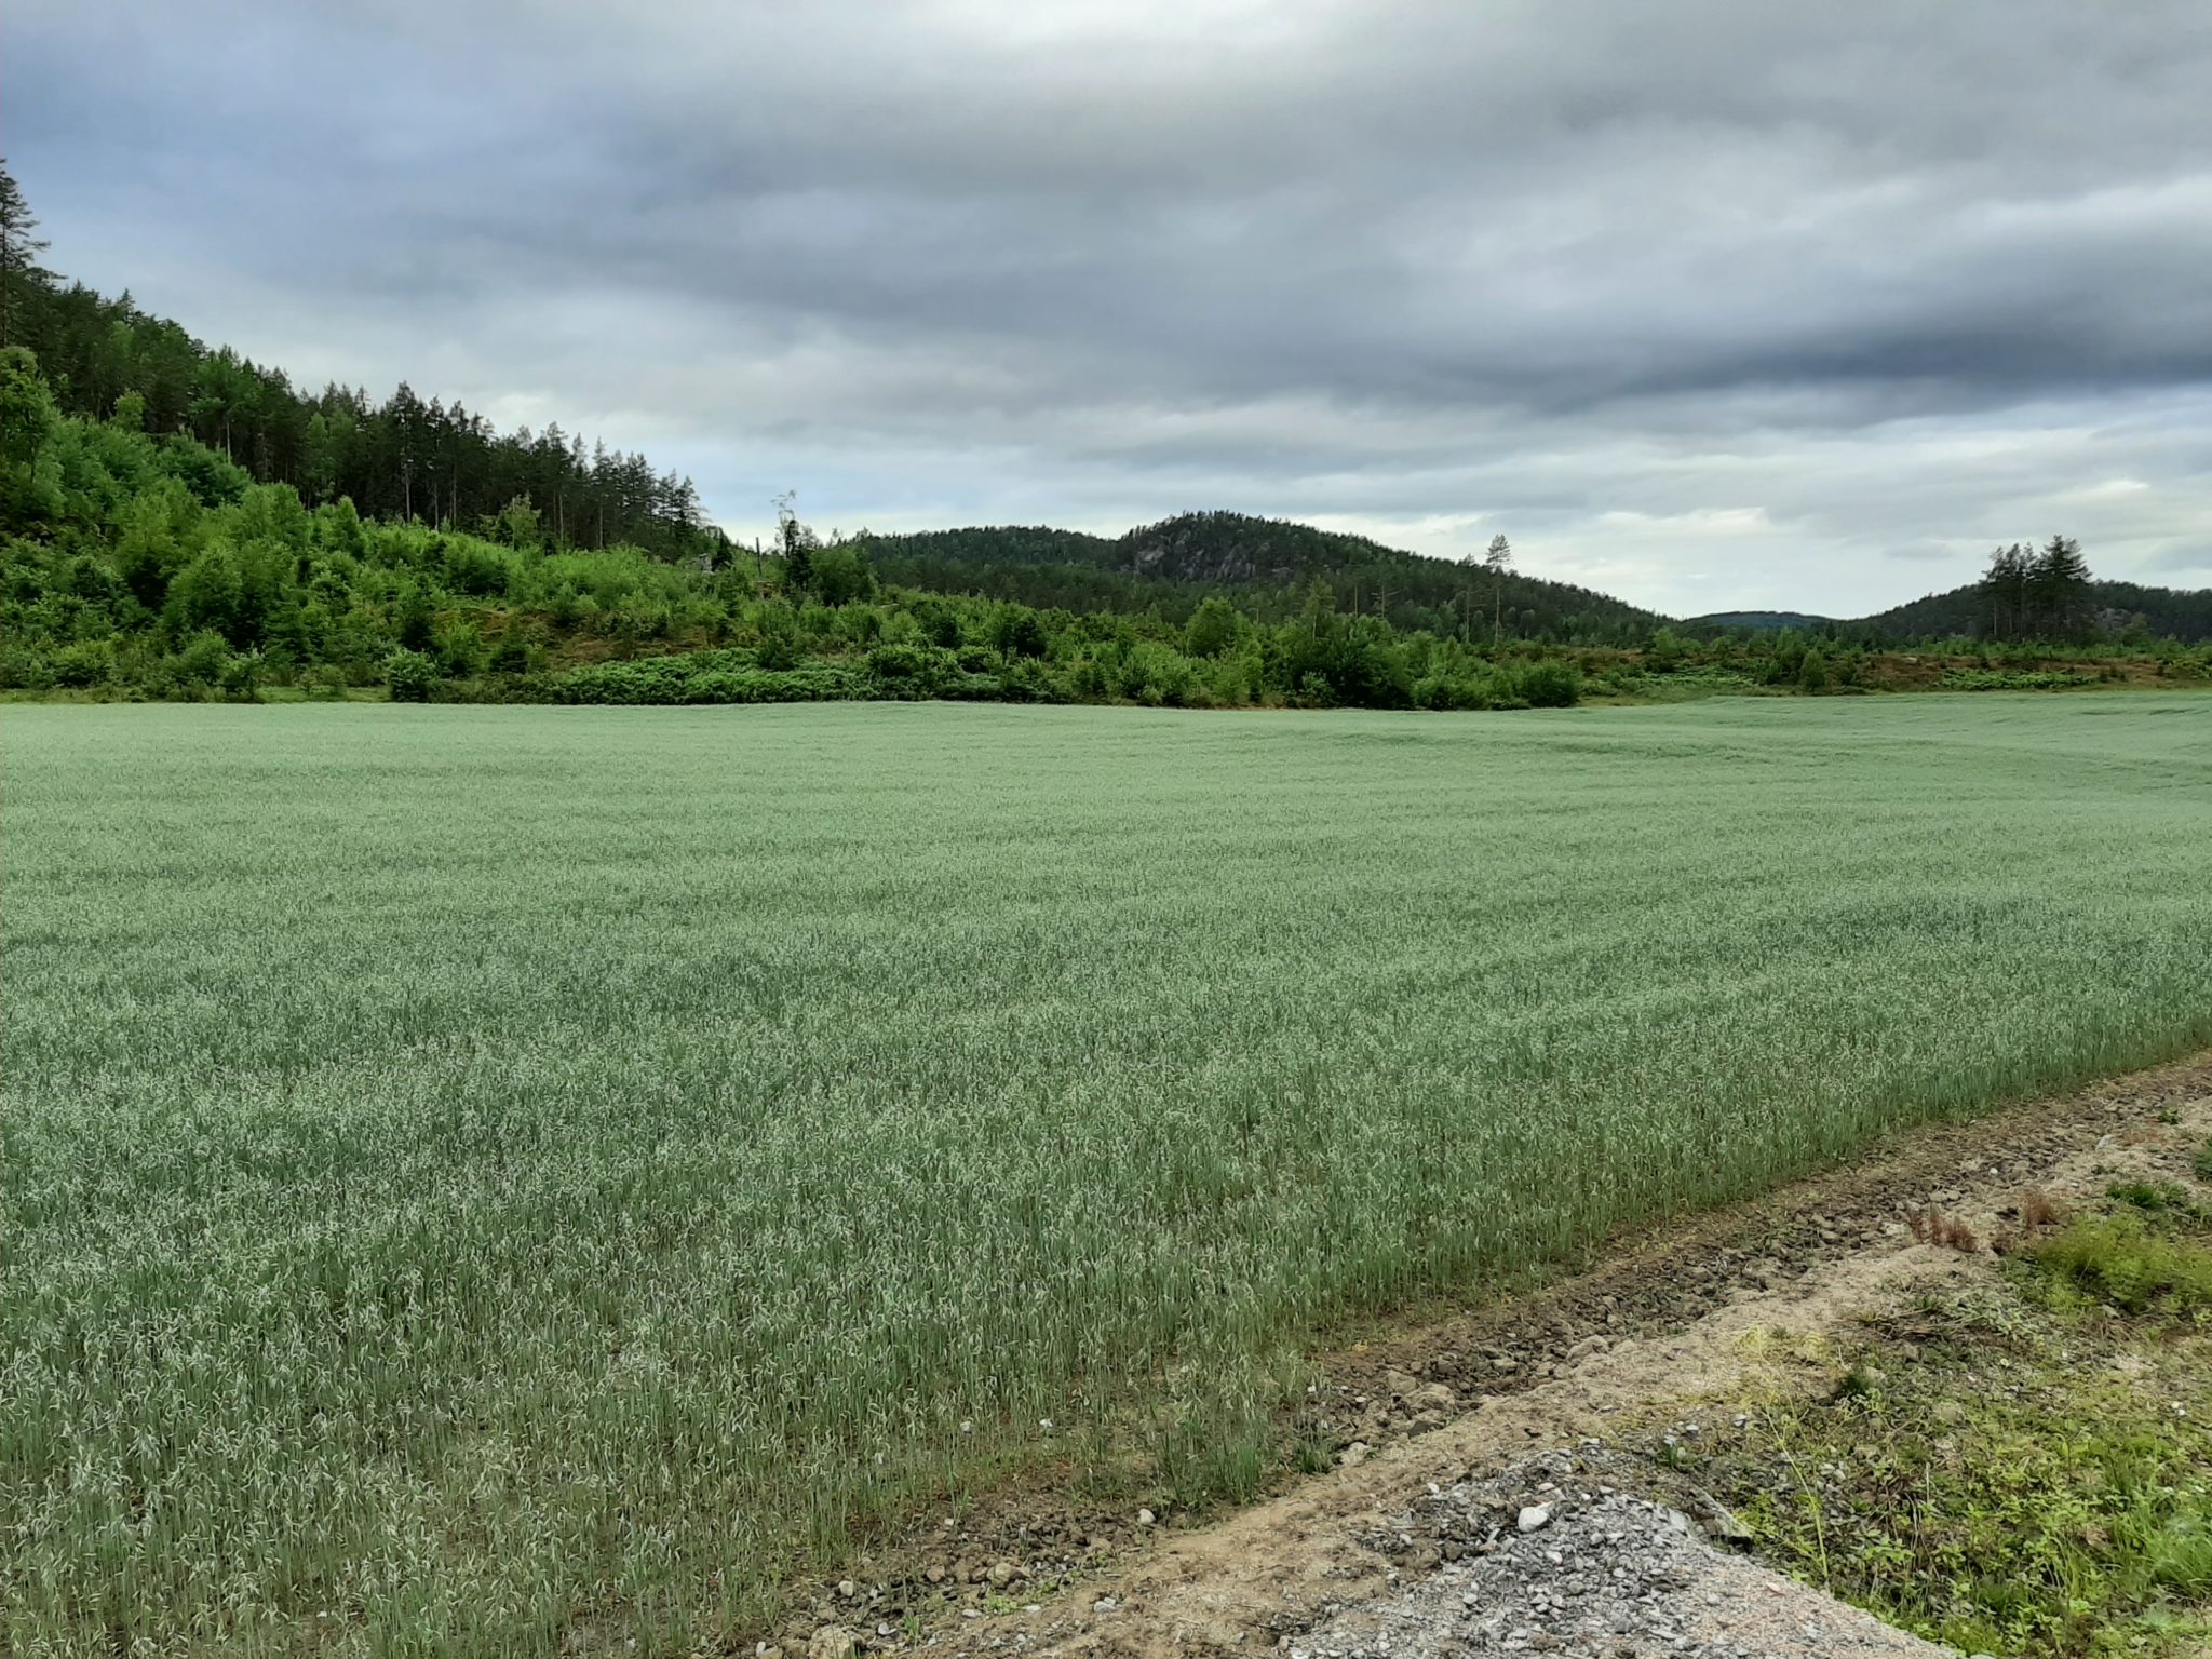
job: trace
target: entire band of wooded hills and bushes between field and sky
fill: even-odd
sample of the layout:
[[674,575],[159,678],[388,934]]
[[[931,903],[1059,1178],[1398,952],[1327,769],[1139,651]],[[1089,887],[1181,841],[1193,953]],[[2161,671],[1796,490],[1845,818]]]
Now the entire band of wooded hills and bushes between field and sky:
[[2070,686],[2132,672],[2088,661],[2130,641],[2146,672],[2212,677],[2212,653],[2154,639],[2212,635],[2212,595],[2097,584],[2062,538],[1882,630],[1677,628],[1517,573],[1502,535],[1455,564],[1241,513],[825,542],[785,500],[776,544],[745,549],[641,456],[500,436],[405,385],[299,394],[40,252],[0,170],[11,692],[1520,708]]

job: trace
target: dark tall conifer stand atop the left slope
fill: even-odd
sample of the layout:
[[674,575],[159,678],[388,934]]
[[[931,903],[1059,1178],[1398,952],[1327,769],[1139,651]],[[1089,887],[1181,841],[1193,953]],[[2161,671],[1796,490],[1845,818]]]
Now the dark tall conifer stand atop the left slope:
[[254,482],[281,482],[310,504],[352,500],[369,518],[473,529],[507,502],[535,502],[566,546],[637,546],[655,557],[721,544],[688,478],[557,425],[495,431],[458,400],[400,387],[294,387],[281,367],[210,349],[131,294],[108,299],[62,281],[15,179],[0,166],[0,345],[22,345],[64,414],[150,434],[188,434]]

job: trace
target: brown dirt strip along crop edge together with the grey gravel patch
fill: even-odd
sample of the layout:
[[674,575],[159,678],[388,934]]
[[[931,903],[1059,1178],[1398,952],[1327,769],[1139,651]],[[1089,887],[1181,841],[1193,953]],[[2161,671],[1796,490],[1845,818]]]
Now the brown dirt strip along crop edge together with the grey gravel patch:
[[[1301,1429],[1343,1447],[1332,1473],[1190,1526],[1011,1482],[812,1586],[761,1652],[1940,1655],[1723,1553],[1705,1533],[1730,1542],[1725,1511],[1613,1442],[1834,1385],[1867,1314],[1993,1272],[2022,1194],[2086,1197],[2208,1130],[2212,1055],[1898,1133],[1571,1279],[1321,1356]],[[1929,1217],[1971,1248],[1924,1243]],[[1546,1520],[1522,1533],[1524,1509]],[[1621,1582],[1646,1599],[1590,1588]]]

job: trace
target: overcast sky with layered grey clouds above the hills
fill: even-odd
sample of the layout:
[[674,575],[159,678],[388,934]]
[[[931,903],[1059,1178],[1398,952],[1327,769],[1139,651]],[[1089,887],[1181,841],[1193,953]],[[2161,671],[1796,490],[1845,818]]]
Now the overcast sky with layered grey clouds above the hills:
[[49,263],[750,535],[2212,584],[2212,0],[9,0]]

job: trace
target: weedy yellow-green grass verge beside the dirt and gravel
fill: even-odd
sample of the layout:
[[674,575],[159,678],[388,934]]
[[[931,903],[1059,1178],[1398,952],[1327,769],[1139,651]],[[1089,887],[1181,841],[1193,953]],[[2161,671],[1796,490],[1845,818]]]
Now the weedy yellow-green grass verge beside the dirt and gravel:
[[2115,1186],[2017,1239],[1995,1283],[1874,1325],[1834,1398],[1750,1411],[1670,1460],[1763,1553],[1936,1641],[2205,1652],[2208,1221],[2179,1186]]

